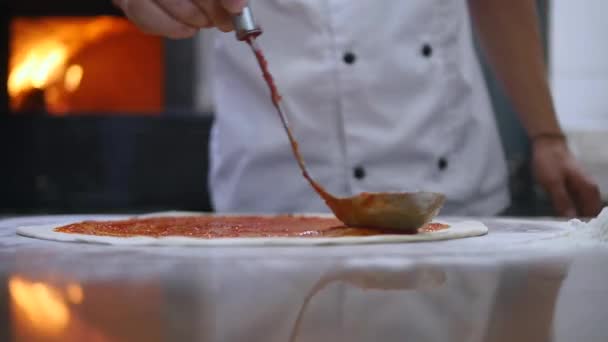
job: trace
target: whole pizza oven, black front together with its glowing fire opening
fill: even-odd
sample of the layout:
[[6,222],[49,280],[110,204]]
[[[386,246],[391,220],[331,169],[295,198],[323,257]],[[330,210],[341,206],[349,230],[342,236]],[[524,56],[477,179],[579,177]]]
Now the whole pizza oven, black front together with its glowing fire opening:
[[210,209],[195,40],[146,35],[107,0],[0,9],[0,208]]

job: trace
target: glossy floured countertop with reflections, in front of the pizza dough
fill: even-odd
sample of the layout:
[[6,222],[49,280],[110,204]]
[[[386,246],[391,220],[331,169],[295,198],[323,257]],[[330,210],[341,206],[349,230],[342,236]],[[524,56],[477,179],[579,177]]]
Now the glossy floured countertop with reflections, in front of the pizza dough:
[[201,249],[37,241],[15,236],[9,221],[0,222],[2,340],[608,336],[608,248],[497,250],[497,239],[551,231],[541,226],[520,240],[508,236],[515,222],[487,220],[490,236],[459,243]]

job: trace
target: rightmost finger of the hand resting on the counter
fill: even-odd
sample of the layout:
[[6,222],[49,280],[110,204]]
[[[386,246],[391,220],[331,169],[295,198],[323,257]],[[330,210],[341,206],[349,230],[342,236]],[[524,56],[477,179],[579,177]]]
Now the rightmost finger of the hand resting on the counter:
[[581,169],[568,171],[566,186],[574,195],[579,215],[592,217],[599,214],[602,209],[600,189]]

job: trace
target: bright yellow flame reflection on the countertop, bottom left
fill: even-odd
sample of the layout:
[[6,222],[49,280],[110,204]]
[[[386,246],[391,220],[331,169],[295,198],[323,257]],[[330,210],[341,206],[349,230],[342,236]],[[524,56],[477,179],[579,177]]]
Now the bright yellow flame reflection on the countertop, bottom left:
[[67,328],[70,311],[61,292],[55,288],[13,276],[8,289],[15,309],[32,329],[45,335],[58,335]]

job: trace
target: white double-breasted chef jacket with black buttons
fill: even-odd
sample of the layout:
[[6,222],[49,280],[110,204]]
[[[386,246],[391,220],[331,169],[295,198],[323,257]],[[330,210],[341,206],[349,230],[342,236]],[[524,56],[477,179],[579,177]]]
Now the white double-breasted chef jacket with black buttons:
[[[312,176],[330,192],[437,191],[492,215],[507,168],[466,0],[258,0],[259,44]],[[210,189],[219,212],[327,211],[248,46],[218,33]]]

